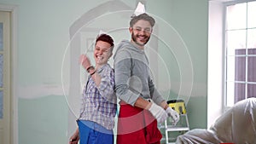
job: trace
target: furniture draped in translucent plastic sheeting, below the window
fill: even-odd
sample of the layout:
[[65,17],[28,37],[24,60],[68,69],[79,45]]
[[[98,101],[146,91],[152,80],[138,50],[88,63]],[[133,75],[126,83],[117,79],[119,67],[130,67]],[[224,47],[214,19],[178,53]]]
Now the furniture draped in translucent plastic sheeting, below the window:
[[237,102],[209,130],[189,130],[177,144],[256,144],[256,98]]

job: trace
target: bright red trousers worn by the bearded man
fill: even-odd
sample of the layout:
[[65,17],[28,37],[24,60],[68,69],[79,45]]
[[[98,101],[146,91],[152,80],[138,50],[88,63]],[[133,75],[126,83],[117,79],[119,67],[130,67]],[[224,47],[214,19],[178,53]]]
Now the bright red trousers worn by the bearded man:
[[120,102],[117,144],[160,144],[161,138],[150,112]]

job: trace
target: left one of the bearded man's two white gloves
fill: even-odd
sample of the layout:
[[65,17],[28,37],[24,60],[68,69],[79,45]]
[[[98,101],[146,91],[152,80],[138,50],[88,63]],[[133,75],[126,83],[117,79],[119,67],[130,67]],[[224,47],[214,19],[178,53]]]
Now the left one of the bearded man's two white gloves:
[[154,102],[151,102],[151,103],[152,105],[151,107],[149,107],[148,111],[152,113],[154,118],[156,118],[157,122],[163,123],[168,117],[165,109],[156,105]]

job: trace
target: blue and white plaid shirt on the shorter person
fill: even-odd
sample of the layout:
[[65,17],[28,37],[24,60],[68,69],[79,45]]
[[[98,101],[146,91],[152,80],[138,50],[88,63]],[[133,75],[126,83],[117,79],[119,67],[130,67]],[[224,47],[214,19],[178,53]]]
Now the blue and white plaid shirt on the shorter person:
[[97,73],[102,77],[102,82],[97,87],[89,76],[84,86],[79,119],[90,120],[108,130],[113,130],[117,110],[113,69],[106,64]]

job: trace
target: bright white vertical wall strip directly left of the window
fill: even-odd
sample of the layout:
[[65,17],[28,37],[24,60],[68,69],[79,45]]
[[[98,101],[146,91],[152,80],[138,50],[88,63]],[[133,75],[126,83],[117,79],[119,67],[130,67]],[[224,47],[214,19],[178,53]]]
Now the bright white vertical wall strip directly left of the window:
[[223,107],[223,4],[209,2],[207,127],[222,114]]

